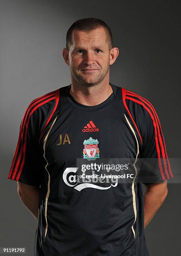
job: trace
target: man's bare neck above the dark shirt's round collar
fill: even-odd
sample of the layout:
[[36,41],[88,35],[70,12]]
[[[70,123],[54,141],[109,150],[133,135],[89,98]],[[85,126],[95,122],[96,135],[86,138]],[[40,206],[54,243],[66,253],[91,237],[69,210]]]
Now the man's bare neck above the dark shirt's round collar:
[[95,106],[107,100],[112,92],[112,87],[108,82],[107,84],[97,84],[91,87],[82,84],[71,84],[69,93],[80,104]]

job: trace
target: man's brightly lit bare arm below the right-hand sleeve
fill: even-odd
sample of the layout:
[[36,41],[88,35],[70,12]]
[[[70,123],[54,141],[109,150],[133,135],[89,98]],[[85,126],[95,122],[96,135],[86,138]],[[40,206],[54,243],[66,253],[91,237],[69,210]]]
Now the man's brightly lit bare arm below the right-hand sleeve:
[[167,193],[167,180],[157,184],[145,184],[144,195],[144,228],[149,224],[159,207],[163,204]]

